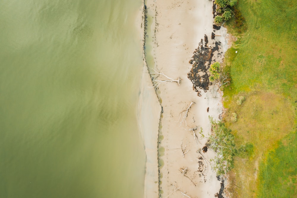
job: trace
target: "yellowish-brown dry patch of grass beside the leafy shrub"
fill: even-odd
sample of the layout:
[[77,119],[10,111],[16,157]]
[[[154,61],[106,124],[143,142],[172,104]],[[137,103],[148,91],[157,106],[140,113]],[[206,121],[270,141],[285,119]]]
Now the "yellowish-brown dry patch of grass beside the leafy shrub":
[[[225,120],[233,131],[237,145],[252,145],[248,157],[235,158],[233,171],[237,174],[236,185],[240,186],[237,188],[238,197],[255,197],[259,163],[269,150],[277,148],[278,141],[292,131],[294,111],[285,97],[274,93],[249,92],[245,97],[246,100],[239,106],[236,103],[239,96],[233,96]],[[232,109],[238,115],[237,122],[231,122]]]

